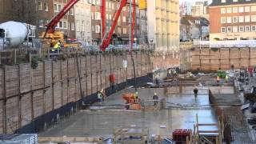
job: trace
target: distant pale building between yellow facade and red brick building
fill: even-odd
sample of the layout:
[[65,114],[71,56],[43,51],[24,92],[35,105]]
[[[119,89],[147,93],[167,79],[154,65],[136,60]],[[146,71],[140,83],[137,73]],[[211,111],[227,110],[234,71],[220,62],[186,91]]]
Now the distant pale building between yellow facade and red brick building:
[[208,14],[208,1],[197,1],[194,2],[191,8],[191,14],[193,17],[203,17],[209,19]]

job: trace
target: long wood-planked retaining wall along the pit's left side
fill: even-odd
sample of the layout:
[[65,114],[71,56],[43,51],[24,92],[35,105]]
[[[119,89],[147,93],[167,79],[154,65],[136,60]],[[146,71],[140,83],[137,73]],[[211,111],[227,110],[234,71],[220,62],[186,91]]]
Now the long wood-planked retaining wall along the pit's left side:
[[[127,61],[126,68],[124,61]],[[152,71],[150,54],[134,53],[134,61],[138,79]],[[126,85],[134,78],[130,55],[88,54],[43,60],[35,69],[29,63],[3,66],[0,68],[0,134],[14,133],[31,122],[34,126],[38,122],[42,126],[54,122],[55,119],[47,119],[46,114],[93,94],[94,98],[88,101],[94,102],[98,90],[110,87],[110,74],[115,75],[116,84]],[[56,115],[58,118],[62,114]]]

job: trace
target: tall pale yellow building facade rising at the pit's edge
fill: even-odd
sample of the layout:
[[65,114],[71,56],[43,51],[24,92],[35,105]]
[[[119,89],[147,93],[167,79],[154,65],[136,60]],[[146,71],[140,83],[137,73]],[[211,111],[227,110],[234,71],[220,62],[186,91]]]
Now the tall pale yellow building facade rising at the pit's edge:
[[156,50],[179,50],[179,1],[147,0],[148,39]]

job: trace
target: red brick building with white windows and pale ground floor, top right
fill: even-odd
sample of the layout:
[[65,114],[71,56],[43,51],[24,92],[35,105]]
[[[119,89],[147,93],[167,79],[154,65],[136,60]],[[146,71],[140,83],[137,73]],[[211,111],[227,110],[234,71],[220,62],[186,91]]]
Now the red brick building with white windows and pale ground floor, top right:
[[214,0],[209,14],[210,40],[256,39],[256,0]]

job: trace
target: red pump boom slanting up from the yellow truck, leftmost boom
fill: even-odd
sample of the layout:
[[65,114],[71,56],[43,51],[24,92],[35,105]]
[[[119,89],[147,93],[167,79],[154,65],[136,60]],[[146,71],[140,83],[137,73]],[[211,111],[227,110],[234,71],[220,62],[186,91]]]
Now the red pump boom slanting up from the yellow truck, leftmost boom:
[[76,4],[79,0],[70,0],[66,3],[66,5],[63,7],[63,9],[54,16],[50,20],[49,23],[47,23],[46,33],[44,37],[46,37],[46,34],[52,34],[55,31],[55,26],[57,26],[58,22],[64,17],[64,15]]

